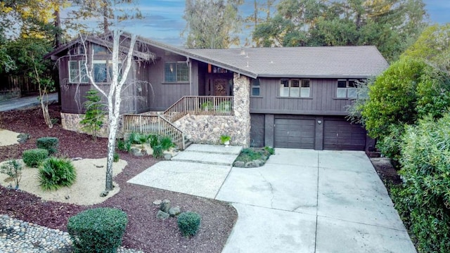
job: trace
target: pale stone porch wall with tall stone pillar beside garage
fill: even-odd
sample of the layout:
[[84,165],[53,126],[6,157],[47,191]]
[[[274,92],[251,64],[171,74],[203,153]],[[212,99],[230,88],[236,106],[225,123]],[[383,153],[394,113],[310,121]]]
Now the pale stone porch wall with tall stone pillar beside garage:
[[231,145],[250,145],[250,79],[234,74],[233,116],[186,115],[174,123],[193,143],[219,144],[223,134]]

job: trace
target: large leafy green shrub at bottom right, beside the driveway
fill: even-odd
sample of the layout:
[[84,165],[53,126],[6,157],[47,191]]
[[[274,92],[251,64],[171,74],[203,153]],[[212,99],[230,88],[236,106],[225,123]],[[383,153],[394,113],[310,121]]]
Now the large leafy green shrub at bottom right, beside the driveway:
[[395,207],[418,252],[450,252],[450,115],[406,127],[402,141]]

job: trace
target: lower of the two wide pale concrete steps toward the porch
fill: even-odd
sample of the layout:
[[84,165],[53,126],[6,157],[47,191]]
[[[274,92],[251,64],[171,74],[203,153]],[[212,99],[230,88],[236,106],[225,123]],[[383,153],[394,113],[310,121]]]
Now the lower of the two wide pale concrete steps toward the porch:
[[[189,146],[189,148],[193,145]],[[189,148],[187,148],[184,152],[178,153],[178,155],[172,157],[171,160],[179,162],[196,162],[201,164],[233,166],[234,160],[238,157],[238,155],[187,151]]]

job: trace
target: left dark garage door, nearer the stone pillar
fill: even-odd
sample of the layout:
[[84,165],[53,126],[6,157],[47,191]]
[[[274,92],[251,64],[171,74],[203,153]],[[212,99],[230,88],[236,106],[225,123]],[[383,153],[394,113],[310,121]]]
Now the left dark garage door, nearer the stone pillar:
[[276,148],[314,148],[314,119],[275,119]]

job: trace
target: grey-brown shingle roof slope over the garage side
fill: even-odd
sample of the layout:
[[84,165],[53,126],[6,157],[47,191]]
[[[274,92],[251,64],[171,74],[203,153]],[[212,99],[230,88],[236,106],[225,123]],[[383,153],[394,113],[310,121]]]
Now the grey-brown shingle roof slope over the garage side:
[[192,56],[252,77],[364,78],[387,61],[375,46],[185,49]]

